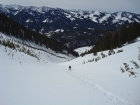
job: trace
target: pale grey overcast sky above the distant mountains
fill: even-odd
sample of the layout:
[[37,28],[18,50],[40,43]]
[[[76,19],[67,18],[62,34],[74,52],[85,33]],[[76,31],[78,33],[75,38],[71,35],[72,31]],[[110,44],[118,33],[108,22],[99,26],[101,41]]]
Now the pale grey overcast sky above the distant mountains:
[[63,9],[98,10],[100,12],[126,11],[140,14],[140,0],[0,0],[0,4],[48,6]]

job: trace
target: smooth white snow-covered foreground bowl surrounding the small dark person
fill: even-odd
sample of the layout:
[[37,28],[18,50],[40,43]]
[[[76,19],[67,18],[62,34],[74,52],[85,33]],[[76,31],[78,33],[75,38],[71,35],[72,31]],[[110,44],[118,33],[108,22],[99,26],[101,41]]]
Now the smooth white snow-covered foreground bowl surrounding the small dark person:
[[[41,51],[37,60],[0,45],[0,105],[139,105],[140,68],[130,62],[140,64],[138,47],[140,41],[110,56],[102,52],[105,58],[99,52],[66,61]],[[122,73],[123,63],[136,77]]]

